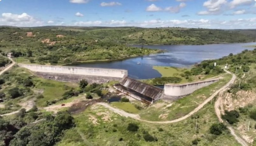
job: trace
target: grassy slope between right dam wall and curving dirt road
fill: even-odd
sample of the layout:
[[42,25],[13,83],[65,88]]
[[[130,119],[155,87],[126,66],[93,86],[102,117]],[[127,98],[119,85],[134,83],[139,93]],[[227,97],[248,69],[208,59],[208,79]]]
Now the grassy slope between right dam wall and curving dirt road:
[[194,93],[174,101],[172,106],[168,108],[163,109],[166,104],[163,104],[160,107],[150,106],[146,108],[140,112],[140,117],[142,119],[151,121],[166,121],[180,118],[190,113],[199,104],[203,103],[203,101],[209,98],[214,91],[223,87],[230,79],[231,75],[225,74],[224,79],[211,84],[210,86],[196,90]]

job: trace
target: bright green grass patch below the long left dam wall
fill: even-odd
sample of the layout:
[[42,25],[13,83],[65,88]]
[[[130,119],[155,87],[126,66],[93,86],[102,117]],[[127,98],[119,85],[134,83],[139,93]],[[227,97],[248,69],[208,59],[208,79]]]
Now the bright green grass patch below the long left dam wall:
[[53,101],[62,98],[62,95],[71,88],[77,88],[78,84],[59,82],[55,80],[46,80],[42,78],[34,78],[35,89],[42,90],[44,98],[38,99],[36,105],[39,107],[46,106],[46,101]]

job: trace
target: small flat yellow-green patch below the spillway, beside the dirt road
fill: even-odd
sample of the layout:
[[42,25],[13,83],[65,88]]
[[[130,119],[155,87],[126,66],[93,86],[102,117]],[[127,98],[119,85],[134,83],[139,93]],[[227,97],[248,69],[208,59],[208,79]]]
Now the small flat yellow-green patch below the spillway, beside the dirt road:
[[139,113],[139,109],[130,102],[111,102],[111,104],[117,108],[120,108],[128,113]]

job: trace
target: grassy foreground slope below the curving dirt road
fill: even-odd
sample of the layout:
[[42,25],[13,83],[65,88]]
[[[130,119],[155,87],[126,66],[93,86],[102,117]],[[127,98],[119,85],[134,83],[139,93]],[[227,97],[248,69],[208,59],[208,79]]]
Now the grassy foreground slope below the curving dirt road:
[[[231,136],[228,130],[220,136],[209,133],[209,128],[218,121],[214,105],[207,104],[198,113],[198,131],[195,130],[196,119],[187,118],[172,124],[151,124],[139,122],[131,118],[125,118],[113,113],[99,105],[93,105],[84,112],[74,115],[76,127],[67,130],[58,146],[71,145],[132,145],[132,146],[155,146],[155,145],[192,145],[192,140],[198,138],[198,145],[209,146],[238,146],[239,144]],[[105,117],[109,117],[105,120]],[[93,117],[93,118],[92,118]],[[93,121],[97,121],[94,124]],[[129,123],[139,126],[137,132],[127,130]],[[160,132],[158,129],[162,128]],[[157,142],[146,142],[143,138],[144,131],[158,139]],[[120,141],[120,138],[123,140]]]

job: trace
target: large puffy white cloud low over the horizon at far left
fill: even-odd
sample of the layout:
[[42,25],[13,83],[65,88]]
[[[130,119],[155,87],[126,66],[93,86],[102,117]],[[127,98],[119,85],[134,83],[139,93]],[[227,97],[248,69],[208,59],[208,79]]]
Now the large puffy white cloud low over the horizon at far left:
[[11,26],[41,26],[43,22],[35,19],[27,13],[12,14],[2,13],[0,17],[0,25],[11,25]]

